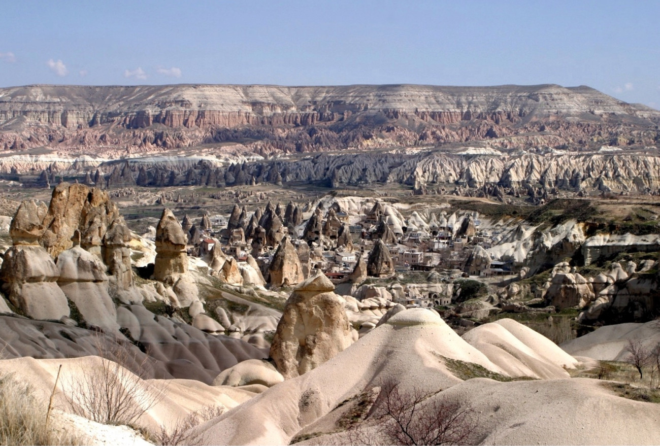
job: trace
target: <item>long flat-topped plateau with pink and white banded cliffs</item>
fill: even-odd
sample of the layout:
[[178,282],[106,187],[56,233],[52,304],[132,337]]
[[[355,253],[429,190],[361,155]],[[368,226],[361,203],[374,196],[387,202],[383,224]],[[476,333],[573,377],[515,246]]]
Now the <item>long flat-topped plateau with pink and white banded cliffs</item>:
[[251,139],[259,154],[498,139],[651,144],[660,112],[558,85],[22,86],[0,89],[0,147],[96,152]]

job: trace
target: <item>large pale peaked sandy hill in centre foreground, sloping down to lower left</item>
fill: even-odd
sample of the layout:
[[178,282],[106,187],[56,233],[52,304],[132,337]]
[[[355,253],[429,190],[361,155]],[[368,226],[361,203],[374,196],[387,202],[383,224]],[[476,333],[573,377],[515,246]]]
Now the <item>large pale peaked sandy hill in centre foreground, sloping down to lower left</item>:
[[[499,357],[492,349],[487,356],[456,335],[436,313],[409,309],[317,369],[275,385],[208,422],[205,428],[209,444],[286,444],[296,435],[336,431],[342,402],[387,380],[394,380],[406,389],[436,393],[459,385],[471,373],[508,377],[504,367],[496,364],[506,361],[514,364],[508,367],[513,367],[517,375],[525,369],[532,376],[545,373],[555,379],[568,378],[561,366],[570,367],[576,362],[560,348],[551,348],[543,336],[533,335],[530,329],[513,321],[496,325],[500,328],[490,328],[500,333],[504,342],[502,350],[516,352],[523,358],[521,352],[527,343],[538,352],[527,350],[529,358],[523,358],[525,363],[512,354],[506,359],[503,354]],[[480,346],[479,342],[475,344]],[[497,384],[490,380],[483,383]],[[328,437],[321,443],[331,441],[341,440]]]

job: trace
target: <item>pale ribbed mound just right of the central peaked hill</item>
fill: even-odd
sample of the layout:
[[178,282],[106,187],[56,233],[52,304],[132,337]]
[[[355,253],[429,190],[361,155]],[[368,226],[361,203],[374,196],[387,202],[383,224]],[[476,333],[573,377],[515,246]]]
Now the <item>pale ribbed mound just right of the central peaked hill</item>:
[[578,362],[554,342],[513,319],[480,325],[461,336],[513,377],[568,378]]

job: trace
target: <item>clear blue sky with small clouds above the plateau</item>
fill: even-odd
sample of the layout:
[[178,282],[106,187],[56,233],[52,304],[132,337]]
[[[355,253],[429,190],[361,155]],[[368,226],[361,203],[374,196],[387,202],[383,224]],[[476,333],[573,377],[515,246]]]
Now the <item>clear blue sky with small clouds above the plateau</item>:
[[0,0],[0,86],[589,85],[660,108],[660,1]]

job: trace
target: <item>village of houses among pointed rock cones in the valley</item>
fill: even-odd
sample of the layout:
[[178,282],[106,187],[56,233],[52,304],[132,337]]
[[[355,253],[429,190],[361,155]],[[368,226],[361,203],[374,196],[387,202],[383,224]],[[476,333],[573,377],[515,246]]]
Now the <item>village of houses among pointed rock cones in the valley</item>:
[[[517,274],[511,262],[491,259],[494,234],[480,230],[477,212],[447,217],[442,212],[426,224],[416,212],[403,219],[391,205],[376,201],[363,213],[347,212],[338,203],[327,210],[319,203],[304,212],[292,202],[286,207],[268,203],[248,212],[234,205],[226,216],[204,214],[197,224],[188,215],[182,228],[188,236],[189,255],[213,255],[214,249],[237,262],[255,259],[265,282],[271,287],[291,286],[298,280],[287,272],[271,274],[271,267],[290,265],[291,255],[283,246],[291,243],[300,262],[302,278],[320,270],[345,294],[355,292],[368,277],[405,278],[413,272],[426,273],[419,283],[403,280],[390,287],[391,300],[407,307],[439,307],[455,301],[454,280]],[[281,249],[282,247],[282,249]],[[417,278],[419,276],[416,276]],[[351,288],[353,286],[353,288]]]

